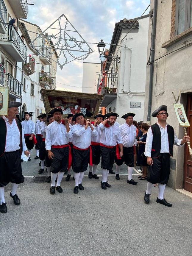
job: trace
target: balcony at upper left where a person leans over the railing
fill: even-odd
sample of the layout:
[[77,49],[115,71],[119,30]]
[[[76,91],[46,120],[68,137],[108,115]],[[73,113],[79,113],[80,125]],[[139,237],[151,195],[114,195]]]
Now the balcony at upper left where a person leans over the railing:
[[26,62],[27,48],[13,26],[7,25],[6,34],[0,34],[0,46],[2,46],[15,61]]

